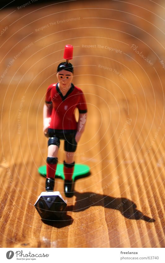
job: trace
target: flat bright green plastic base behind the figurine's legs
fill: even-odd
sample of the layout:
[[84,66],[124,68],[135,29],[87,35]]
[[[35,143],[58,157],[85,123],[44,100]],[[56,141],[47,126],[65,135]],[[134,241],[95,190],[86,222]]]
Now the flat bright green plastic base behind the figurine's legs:
[[[40,166],[38,168],[38,173],[40,173],[42,176],[46,176],[46,165]],[[85,164],[75,164],[74,173],[72,176],[73,181],[76,179],[89,176],[90,174],[90,168],[88,165]],[[55,173],[56,178],[62,178],[65,179],[63,174],[63,164],[57,164],[57,169]]]

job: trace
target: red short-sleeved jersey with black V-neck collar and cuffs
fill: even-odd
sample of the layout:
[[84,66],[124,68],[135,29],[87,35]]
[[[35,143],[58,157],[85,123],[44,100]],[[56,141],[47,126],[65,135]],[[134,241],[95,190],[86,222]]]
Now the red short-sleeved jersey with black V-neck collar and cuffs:
[[47,88],[46,103],[50,103],[53,106],[50,129],[77,130],[75,109],[78,108],[79,113],[87,112],[82,90],[72,83],[65,96],[59,90],[58,83],[51,84]]

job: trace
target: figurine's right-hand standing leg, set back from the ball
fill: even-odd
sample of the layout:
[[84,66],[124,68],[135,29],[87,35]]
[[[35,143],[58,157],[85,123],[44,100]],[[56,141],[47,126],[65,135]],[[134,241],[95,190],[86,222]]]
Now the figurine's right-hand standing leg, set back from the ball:
[[66,157],[63,162],[63,173],[65,176],[64,180],[64,193],[67,197],[72,197],[74,194],[74,182],[72,180],[72,175],[74,172],[74,152],[76,151],[77,143],[75,138],[65,140],[64,150],[66,151]]

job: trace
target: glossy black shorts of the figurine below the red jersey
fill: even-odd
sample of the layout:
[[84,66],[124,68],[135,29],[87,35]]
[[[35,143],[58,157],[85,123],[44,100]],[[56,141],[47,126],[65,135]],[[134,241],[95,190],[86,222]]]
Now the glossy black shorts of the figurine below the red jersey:
[[48,146],[51,144],[59,147],[60,140],[64,140],[64,150],[68,152],[74,152],[77,148],[77,142],[75,140],[76,130],[55,130],[48,129],[46,137],[49,137]]

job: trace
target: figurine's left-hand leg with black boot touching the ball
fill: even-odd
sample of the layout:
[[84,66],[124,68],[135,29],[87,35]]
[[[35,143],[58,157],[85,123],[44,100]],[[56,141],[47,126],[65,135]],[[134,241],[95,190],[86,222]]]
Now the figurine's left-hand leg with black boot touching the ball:
[[46,191],[54,190],[54,177],[58,163],[59,138],[48,140],[48,157],[46,159]]

